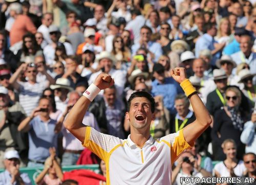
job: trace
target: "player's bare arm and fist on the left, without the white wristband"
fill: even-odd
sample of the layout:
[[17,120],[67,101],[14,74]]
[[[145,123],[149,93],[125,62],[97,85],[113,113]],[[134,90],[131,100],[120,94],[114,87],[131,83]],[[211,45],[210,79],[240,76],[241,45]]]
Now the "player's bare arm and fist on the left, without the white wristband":
[[[105,89],[114,85],[114,80],[110,75],[101,73],[96,78],[94,84],[99,89]],[[91,101],[88,98],[82,96],[70,110],[67,119],[63,123],[65,128],[81,142],[84,141],[84,136],[86,135],[86,125],[82,124],[82,119],[90,103]]]

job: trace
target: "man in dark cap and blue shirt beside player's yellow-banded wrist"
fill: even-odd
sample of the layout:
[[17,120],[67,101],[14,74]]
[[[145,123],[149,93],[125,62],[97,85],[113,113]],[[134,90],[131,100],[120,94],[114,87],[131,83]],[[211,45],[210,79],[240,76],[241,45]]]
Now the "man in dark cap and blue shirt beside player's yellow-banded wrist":
[[177,82],[171,77],[164,76],[164,66],[160,63],[156,63],[153,67],[153,77],[155,80],[152,82],[153,96],[163,96],[163,104],[169,110],[171,114],[175,114],[174,108],[175,97],[178,94],[183,94],[183,90],[180,88]]

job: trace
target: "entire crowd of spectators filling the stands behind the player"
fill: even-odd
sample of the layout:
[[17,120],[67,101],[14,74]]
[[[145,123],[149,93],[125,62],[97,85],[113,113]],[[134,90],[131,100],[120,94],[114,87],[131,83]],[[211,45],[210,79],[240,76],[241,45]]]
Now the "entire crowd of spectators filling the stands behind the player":
[[155,98],[152,137],[190,124],[193,108],[170,76],[178,66],[213,122],[176,161],[172,182],[256,177],[255,1],[0,0],[0,10],[0,184],[30,184],[19,167],[44,167],[38,184],[76,184],[61,166],[104,166],[62,125],[102,72],[115,85],[101,90],[83,124],[127,138],[134,91]]

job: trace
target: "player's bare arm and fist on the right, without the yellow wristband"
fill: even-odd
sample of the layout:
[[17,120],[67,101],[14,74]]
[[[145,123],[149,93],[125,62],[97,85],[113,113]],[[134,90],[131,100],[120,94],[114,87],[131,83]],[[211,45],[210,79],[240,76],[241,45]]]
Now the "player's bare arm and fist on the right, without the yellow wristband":
[[[186,80],[185,68],[177,67],[171,72],[172,77],[179,83],[182,83]],[[200,97],[195,93],[190,96],[190,103],[195,111],[196,120],[188,124],[183,129],[183,135],[186,142],[193,146],[197,138],[206,130],[211,124],[211,118],[208,110],[204,106],[204,103]]]

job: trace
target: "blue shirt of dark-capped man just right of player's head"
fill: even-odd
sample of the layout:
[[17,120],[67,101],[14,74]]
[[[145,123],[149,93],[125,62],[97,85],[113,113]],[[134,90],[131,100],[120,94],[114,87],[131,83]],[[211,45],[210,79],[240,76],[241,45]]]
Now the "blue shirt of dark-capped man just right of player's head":
[[169,110],[170,113],[175,114],[176,109],[174,108],[175,97],[178,94],[184,94],[184,91],[180,85],[171,77],[165,78],[164,83],[160,84],[158,80],[152,82],[152,91],[153,96],[162,96],[163,104]]

